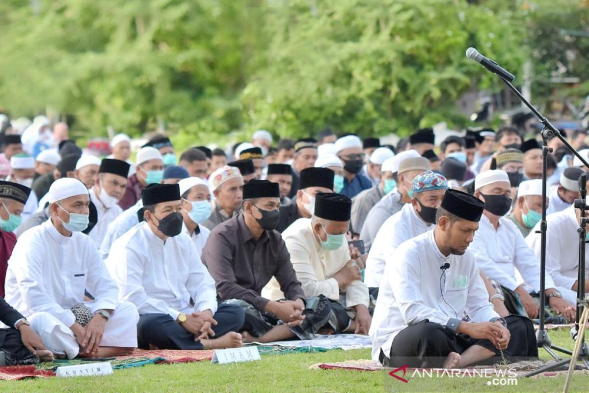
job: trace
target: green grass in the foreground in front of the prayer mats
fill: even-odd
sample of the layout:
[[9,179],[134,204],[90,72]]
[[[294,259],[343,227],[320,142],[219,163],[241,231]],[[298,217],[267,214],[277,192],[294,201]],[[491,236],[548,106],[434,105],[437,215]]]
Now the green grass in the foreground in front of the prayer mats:
[[[551,331],[555,345],[573,348],[568,331]],[[540,355],[550,358],[544,350]],[[368,349],[313,354],[266,355],[242,364],[149,365],[122,369],[105,377],[0,381],[0,392],[556,392],[564,377],[518,379],[517,386],[488,386],[484,378],[410,379],[396,381],[387,372],[309,370],[319,362],[368,359]],[[571,392],[589,391],[589,376],[575,375]]]

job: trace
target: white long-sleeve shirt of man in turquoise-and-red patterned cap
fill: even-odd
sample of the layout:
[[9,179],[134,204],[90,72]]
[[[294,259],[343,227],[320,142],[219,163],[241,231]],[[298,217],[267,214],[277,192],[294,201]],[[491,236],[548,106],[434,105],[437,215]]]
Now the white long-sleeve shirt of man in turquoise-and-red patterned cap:
[[386,257],[406,240],[434,228],[415,213],[411,203],[403,205],[400,212],[393,214],[382,224],[366,259],[364,283],[370,288],[378,287],[385,271]]

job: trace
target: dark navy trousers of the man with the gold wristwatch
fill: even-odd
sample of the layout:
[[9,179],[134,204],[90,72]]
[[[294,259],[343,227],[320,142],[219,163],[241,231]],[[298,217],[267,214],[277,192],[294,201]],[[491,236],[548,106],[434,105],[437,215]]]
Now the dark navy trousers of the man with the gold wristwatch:
[[[217,325],[211,326],[215,338],[229,332],[239,332],[243,326],[244,313],[239,306],[220,304],[213,316]],[[194,334],[184,329],[167,314],[143,314],[137,324],[139,348],[149,349],[150,344],[159,349],[203,349]]]

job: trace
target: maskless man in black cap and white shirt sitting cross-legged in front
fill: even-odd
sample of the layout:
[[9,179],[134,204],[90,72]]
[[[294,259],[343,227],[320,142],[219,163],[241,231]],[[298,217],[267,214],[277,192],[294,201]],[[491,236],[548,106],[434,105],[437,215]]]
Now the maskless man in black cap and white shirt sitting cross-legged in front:
[[[448,190],[434,230],[389,256],[370,328],[373,360],[392,367],[464,368],[501,353],[538,356],[531,321],[499,317],[467,249],[483,209],[475,197]],[[461,321],[464,312],[471,322]]]

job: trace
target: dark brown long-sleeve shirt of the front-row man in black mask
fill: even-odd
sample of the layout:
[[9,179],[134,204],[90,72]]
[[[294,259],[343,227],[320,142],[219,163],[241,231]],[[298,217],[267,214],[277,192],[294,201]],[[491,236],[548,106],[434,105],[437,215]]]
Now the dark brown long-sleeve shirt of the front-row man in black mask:
[[272,276],[286,299],[306,300],[280,233],[266,230],[256,240],[243,214],[211,231],[201,260],[213,276],[221,300],[242,299],[263,310],[269,300],[260,293]]

